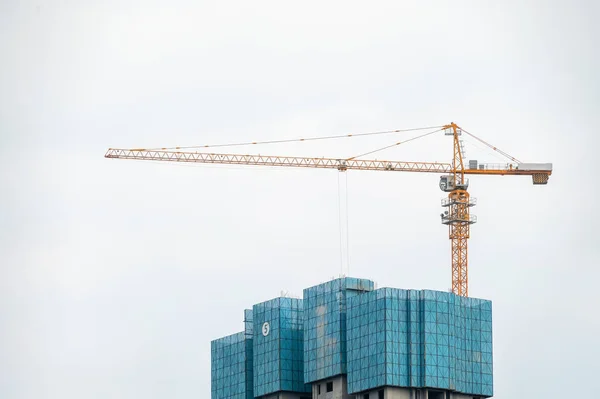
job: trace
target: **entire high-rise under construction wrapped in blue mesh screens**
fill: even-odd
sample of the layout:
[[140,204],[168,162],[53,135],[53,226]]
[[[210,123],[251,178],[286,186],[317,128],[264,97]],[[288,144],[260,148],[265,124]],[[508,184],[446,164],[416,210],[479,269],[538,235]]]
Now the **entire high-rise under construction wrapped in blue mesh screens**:
[[244,312],[211,343],[212,399],[493,395],[492,304],[339,278]]

